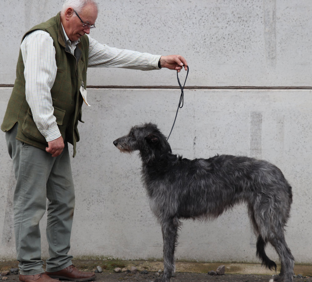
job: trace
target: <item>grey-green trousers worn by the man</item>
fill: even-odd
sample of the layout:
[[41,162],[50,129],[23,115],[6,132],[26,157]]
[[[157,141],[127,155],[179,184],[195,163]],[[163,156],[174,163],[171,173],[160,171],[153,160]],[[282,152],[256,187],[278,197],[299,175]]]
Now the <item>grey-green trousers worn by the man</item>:
[[16,133],[17,124],[6,132],[6,140],[17,181],[13,206],[20,273],[44,272],[39,221],[46,212],[46,206],[46,238],[50,256],[46,260],[46,271],[58,271],[72,264],[72,256],[67,253],[75,192],[68,145],[65,144],[61,155],[52,157],[46,151],[18,141]]

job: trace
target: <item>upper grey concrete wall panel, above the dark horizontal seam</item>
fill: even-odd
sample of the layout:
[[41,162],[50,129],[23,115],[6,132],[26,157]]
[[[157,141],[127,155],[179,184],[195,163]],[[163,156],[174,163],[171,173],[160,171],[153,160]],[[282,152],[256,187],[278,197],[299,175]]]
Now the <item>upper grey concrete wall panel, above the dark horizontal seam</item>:
[[[62,3],[2,0],[0,84],[14,83],[22,35]],[[310,0],[105,0],[91,36],[112,47],[185,56],[189,86],[311,86],[311,12]],[[89,69],[88,85],[176,85],[173,78],[167,70]]]

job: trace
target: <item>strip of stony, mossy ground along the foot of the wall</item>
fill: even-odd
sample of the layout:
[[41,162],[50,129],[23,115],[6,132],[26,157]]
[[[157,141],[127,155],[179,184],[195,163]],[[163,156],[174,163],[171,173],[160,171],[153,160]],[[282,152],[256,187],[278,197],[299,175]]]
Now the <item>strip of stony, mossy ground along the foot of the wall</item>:
[[[96,273],[95,282],[153,282],[161,278],[159,270],[163,270],[162,261],[151,260],[74,260],[73,263],[80,270],[95,272],[100,266],[103,272]],[[17,261],[0,261],[0,272],[9,272],[0,276],[0,279],[18,282],[18,274],[10,273],[17,265]],[[225,265],[224,275],[208,275],[209,271],[216,271],[220,265]],[[131,267],[136,270],[130,271]],[[115,273],[115,268],[123,271]],[[176,268],[171,282],[268,282],[276,274],[260,264],[177,262]],[[312,282],[312,265],[295,265],[294,272],[294,282]]]

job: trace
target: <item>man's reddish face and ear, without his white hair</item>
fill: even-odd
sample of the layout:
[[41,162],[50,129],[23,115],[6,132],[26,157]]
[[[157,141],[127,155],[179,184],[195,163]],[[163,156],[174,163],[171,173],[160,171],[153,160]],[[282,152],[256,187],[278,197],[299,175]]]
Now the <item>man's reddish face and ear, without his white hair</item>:
[[[97,9],[93,5],[86,5],[78,14],[85,24],[95,24],[95,20],[97,18]],[[76,16],[73,9],[69,8],[67,10],[67,16],[68,25],[64,27],[64,29],[70,41],[76,41],[85,33],[90,33],[90,28],[88,26],[83,26],[83,23],[81,22],[79,17]]]

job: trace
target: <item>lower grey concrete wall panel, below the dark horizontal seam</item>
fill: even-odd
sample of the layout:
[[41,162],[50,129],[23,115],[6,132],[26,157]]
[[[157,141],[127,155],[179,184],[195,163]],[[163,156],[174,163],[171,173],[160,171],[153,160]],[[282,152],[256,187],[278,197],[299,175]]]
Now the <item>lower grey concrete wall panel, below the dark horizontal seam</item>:
[[[0,89],[0,120],[12,89]],[[293,187],[286,240],[297,263],[312,263],[311,90],[185,90],[169,143],[185,158],[217,153],[266,159]],[[137,153],[122,154],[113,141],[132,125],[155,122],[168,135],[180,90],[88,89],[81,140],[72,159],[76,210],[71,238],[75,257],[147,259],[162,257],[162,235],[140,181]],[[14,259],[12,162],[0,134],[0,259]],[[41,221],[47,255],[46,219]],[[215,221],[183,221],[178,259],[258,262],[256,238],[246,207],[236,206]],[[277,259],[275,251],[268,255]]]

